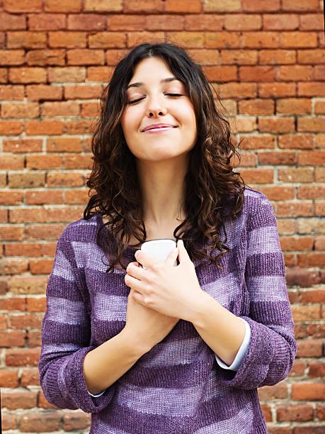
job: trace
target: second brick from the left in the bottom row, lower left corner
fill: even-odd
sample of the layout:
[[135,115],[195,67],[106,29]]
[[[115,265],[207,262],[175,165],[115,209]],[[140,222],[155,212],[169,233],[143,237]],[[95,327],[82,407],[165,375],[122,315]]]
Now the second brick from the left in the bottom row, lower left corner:
[[50,432],[60,428],[61,414],[60,413],[38,413],[25,414],[19,420],[19,429],[23,433],[29,432]]

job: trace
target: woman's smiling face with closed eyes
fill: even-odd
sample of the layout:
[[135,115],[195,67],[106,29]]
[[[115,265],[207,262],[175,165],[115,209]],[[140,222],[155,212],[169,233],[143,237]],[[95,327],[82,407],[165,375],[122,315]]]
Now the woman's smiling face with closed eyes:
[[135,68],[121,124],[127,146],[139,160],[169,160],[194,147],[193,105],[184,84],[160,57],[144,59]]

